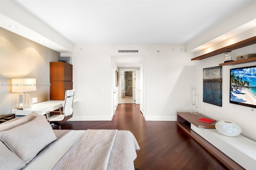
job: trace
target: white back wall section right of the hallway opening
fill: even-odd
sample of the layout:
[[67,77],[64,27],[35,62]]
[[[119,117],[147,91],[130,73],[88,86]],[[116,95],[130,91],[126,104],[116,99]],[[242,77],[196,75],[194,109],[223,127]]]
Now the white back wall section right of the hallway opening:
[[[146,120],[176,121],[177,111],[189,111],[190,85],[194,84],[194,54],[179,45],[159,45],[160,54],[148,48],[145,67]],[[172,107],[172,111],[169,111]]]

